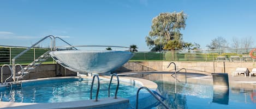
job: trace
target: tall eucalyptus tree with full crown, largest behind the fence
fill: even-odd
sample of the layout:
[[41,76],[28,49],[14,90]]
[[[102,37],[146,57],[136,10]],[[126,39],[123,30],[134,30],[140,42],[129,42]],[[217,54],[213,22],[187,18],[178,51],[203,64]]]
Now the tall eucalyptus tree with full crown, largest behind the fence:
[[[164,48],[167,50],[175,48],[181,49],[182,47],[179,47],[180,44],[182,44],[182,34],[180,30],[186,27],[186,20],[187,16],[183,11],[160,13],[152,20],[151,30],[148,36],[146,36],[147,46],[150,48],[159,46],[160,49]],[[167,44],[168,42],[169,44]],[[172,45],[174,43],[178,43],[177,46]]]

